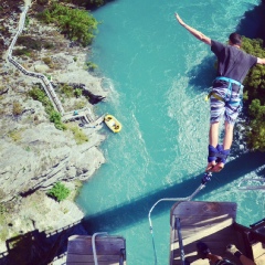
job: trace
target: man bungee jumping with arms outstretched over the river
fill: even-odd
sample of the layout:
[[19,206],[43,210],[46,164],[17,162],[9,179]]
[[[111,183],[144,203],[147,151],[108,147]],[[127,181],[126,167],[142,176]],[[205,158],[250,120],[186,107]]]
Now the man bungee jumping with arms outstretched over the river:
[[[177,21],[198,40],[211,46],[218,57],[218,77],[209,94],[211,118],[209,131],[209,156],[206,171],[219,172],[224,168],[233,141],[234,123],[241,110],[241,94],[248,70],[255,64],[265,64],[265,59],[252,56],[241,50],[241,35],[232,33],[229,45],[211,40],[200,31],[186,24],[178,13]],[[219,121],[225,117],[223,145],[219,145]]]

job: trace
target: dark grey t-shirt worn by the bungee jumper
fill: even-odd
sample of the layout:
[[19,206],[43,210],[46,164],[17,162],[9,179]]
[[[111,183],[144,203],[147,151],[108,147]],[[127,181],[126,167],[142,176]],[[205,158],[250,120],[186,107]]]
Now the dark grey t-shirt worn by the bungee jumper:
[[211,40],[211,51],[218,56],[218,76],[225,76],[242,83],[248,70],[257,63],[257,57],[236,46],[224,45]]

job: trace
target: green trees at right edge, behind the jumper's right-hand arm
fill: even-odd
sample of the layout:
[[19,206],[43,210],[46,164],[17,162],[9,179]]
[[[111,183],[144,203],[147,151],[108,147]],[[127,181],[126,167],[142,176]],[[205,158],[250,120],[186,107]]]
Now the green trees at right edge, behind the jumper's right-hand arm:
[[[254,56],[265,57],[262,40],[243,38],[242,47]],[[247,144],[252,150],[265,151],[265,66],[254,66],[247,74],[244,85],[244,100],[250,117]]]

